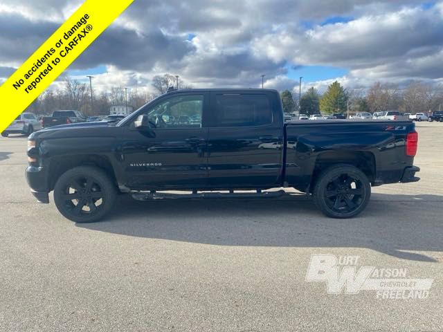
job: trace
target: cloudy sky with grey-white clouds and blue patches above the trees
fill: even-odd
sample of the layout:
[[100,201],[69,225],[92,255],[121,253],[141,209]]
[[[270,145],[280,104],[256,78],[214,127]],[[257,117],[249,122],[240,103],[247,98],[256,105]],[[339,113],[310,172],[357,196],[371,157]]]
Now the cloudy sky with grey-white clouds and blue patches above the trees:
[[[1,0],[0,82],[82,1]],[[136,0],[71,65],[94,89],[150,86],[180,75],[193,87],[320,91],[375,81],[443,83],[443,1]]]

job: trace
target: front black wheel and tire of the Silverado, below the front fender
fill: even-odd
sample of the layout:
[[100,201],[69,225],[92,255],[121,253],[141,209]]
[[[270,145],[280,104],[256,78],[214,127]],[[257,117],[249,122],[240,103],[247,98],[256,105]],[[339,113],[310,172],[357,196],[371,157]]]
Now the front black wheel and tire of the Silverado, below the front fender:
[[113,181],[96,167],[69,169],[54,187],[57,209],[76,223],[93,223],[102,219],[114,207],[116,196]]

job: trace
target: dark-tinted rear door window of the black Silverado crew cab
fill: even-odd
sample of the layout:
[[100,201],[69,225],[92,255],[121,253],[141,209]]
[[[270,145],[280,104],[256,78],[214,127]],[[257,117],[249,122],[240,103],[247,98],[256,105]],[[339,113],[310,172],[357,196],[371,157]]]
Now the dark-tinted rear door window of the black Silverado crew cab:
[[272,123],[266,95],[215,95],[215,127],[253,127]]

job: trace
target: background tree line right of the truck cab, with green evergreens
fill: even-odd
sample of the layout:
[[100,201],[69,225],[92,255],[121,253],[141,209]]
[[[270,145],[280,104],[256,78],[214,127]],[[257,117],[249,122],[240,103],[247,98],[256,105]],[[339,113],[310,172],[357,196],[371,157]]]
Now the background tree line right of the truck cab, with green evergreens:
[[443,86],[413,81],[401,89],[394,84],[375,82],[370,89],[345,89],[337,81],[327,87],[321,95],[314,87],[294,99],[291,91],[281,93],[284,112],[300,114],[332,114],[401,111],[402,113],[428,113],[443,107]]

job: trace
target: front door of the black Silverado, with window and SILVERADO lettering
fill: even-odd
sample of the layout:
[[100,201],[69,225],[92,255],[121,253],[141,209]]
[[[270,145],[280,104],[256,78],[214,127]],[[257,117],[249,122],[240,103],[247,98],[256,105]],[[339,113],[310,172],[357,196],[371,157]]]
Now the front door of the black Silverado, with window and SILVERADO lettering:
[[[132,189],[194,189],[207,184],[206,93],[166,95],[147,107],[152,131],[128,127],[120,147]],[[139,113],[139,115],[143,114]]]

